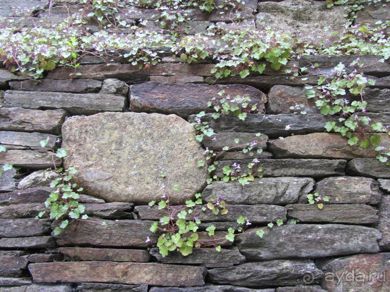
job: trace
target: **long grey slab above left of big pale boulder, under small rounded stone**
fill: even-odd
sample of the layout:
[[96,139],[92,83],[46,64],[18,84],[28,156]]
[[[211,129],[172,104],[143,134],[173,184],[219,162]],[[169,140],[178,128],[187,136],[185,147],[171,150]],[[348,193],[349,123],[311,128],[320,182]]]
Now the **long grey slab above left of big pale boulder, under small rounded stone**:
[[122,112],[126,108],[126,100],[115,94],[7,90],[4,107],[63,109],[72,115],[93,115],[100,112]]

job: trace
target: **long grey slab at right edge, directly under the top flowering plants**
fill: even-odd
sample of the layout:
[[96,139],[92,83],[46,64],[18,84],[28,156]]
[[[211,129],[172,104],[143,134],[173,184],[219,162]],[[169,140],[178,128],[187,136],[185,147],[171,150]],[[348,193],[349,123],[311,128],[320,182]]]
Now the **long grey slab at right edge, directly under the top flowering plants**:
[[[299,67],[306,67],[310,73],[323,75],[324,73],[335,73],[334,68],[342,63],[346,70],[354,71],[355,67],[350,66],[350,64],[357,58],[364,63],[364,67],[359,72],[366,75],[382,77],[388,75],[390,71],[390,64],[387,61],[380,62],[379,60],[383,57],[378,55],[306,55],[300,58]],[[310,66],[313,64],[318,64],[318,66],[311,69]]]

